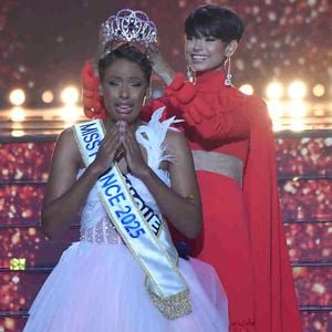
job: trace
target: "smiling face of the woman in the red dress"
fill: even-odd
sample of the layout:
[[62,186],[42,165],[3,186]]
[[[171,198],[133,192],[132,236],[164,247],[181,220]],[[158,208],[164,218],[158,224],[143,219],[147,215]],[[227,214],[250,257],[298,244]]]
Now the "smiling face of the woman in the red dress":
[[196,72],[222,70],[226,43],[214,37],[187,37],[185,55],[187,64]]

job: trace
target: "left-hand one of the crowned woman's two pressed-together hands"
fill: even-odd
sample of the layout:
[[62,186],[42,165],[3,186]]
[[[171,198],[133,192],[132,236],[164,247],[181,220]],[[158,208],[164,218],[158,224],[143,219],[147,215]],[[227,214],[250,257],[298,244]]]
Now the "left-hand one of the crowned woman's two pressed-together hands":
[[101,143],[98,153],[91,166],[98,173],[105,173],[121,154],[121,134],[117,126],[106,131],[106,135]]

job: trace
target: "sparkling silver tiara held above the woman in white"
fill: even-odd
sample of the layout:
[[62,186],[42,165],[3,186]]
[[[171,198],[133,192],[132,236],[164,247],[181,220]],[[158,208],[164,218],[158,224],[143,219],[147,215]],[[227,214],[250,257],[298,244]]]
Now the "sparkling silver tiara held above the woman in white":
[[157,28],[143,11],[123,9],[110,17],[101,27],[105,53],[113,41],[138,42],[146,48],[157,42]]

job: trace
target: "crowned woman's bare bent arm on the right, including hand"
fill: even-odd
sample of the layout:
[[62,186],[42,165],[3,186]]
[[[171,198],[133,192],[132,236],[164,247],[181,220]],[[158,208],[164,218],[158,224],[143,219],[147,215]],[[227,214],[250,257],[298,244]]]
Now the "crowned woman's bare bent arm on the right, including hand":
[[139,177],[157,201],[164,216],[188,238],[201,230],[201,207],[194,162],[184,135],[168,131],[167,146],[175,157],[169,164],[172,188],[167,187],[142,158],[139,146],[131,134],[124,143],[131,170]]

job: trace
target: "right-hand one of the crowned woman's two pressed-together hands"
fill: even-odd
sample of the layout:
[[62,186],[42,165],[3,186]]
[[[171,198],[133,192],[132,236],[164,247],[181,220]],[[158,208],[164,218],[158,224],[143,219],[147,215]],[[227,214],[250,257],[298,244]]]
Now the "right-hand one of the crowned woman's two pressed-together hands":
[[148,175],[149,167],[143,158],[139,144],[125,122],[120,123],[120,133],[129,170],[139,178]]

